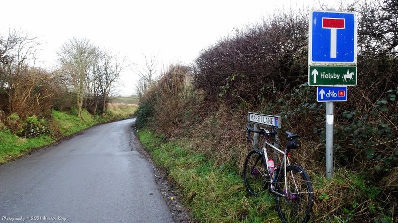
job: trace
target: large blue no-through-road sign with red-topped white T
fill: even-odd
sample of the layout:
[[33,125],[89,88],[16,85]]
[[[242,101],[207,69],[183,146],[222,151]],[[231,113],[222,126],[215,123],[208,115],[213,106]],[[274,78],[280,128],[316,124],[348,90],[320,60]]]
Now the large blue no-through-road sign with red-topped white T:
[[309,22],[309,65],[357,63],[355,13],[312,11]]

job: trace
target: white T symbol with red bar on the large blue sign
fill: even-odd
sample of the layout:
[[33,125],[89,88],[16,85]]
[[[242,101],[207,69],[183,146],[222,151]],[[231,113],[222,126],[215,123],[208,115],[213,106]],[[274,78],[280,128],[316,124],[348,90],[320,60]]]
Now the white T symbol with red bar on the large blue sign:
[[345,19],[322,18],[322,28],[330,29],[330,58],[337,58],[337,30],[345,29]]

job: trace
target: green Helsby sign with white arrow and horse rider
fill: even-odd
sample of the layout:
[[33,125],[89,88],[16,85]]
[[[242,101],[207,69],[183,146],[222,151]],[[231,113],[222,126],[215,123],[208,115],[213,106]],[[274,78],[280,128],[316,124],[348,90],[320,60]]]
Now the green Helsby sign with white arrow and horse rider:
[[353,86],[357,85],[356,66],[310,66],[309,86]]

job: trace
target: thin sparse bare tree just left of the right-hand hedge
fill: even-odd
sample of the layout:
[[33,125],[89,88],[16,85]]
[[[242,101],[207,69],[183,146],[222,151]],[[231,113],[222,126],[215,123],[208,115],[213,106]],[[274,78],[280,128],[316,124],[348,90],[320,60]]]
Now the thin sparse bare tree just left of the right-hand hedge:
[[154,76],[156,75],[156,66],[158,65],[157,53],[153,53],[149,59],[146,55],[143,54],[143,56],[145,59],[145,67],[138,66],[135,63],[133,63],[133,67],[130,66],[133,72],[139,76],[138,83],[135,84],[135,87],[137,88],[136,90],[140,100],[153,83]]

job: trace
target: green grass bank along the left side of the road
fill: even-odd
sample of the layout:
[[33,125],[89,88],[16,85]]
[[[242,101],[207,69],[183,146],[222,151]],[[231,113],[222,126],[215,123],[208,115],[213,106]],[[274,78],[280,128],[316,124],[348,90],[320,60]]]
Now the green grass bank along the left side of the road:
[[[46,121],[48,123],[46,127],[47,129],[51,129],[51,132],[38,138],[29,139],[18,137],[0,122],[0,165],[96,124],[131,118],[136,108],[137,106],[125,104],[110,104],[108,111],[103,115],[91,115],[86,110],[83,110],[82,118],[74,115],[73,110],[71,112],[53,110],[52,120]],[[14,119],[18,121],[16,124],[20,126],[26,124],[19,118]],[[35,121],[36,119],[37,117],[28,118],[28,122]]]

